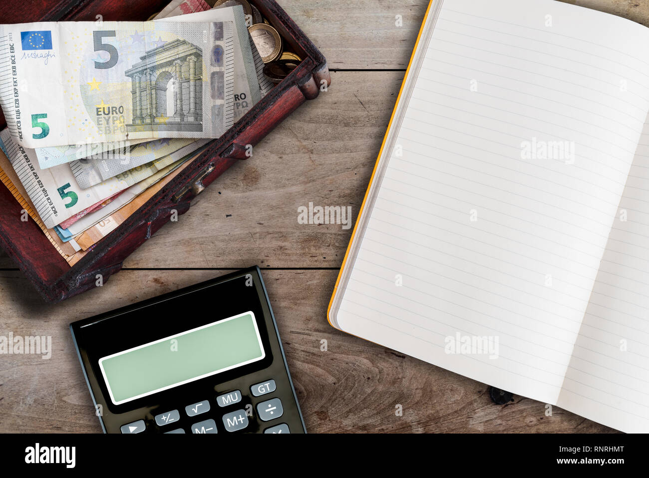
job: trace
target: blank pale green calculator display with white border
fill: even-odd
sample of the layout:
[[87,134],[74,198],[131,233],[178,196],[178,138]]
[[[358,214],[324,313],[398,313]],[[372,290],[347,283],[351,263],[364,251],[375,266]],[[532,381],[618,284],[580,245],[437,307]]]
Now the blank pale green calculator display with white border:
[[232,370],[265,357],[249,311],[99,359],[115,405]]

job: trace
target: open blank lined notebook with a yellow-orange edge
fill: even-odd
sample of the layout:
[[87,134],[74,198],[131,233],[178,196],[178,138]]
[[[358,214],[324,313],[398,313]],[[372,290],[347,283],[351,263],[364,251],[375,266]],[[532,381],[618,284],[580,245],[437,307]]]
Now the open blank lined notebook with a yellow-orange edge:
[[434,0],[330,323],[649,432],[647,45],[553,0]]

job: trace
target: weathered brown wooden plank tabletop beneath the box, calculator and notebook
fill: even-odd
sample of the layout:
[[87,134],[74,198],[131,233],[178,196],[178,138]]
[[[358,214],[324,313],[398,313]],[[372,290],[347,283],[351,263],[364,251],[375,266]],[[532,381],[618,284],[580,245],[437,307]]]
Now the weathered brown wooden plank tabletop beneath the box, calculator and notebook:
[[[49,360],[0,355],[0,432],[101,432],[68,324],[254,264],[263,270],[310,432],[612,431],[558,407],[546,416],[544,403],[525,397],[495,405],[487,384],[328,325],[351,230],[299,224],[297,209],[351,206],[356,220],[427,2],[279,3],[328,59],[328,92],[300,107],[103,287],[47,305],[0,255],[0,335],[53,341]],[[648,3],[570,3],[649,25]]]

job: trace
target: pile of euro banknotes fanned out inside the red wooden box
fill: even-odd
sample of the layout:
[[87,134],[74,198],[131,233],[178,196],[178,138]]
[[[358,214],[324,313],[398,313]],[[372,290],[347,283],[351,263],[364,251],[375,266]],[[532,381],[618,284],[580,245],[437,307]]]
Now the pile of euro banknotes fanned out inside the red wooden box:
[[237,1],[0,25],[0,179],[70,265],[273,87]]

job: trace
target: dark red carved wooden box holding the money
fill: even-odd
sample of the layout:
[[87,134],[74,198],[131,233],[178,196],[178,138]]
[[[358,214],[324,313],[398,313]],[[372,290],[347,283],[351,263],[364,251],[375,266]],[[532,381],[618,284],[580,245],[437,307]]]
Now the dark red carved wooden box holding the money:
[[[35,0],[29,8],[3,8],[0,23],[28,21],[146,20],[169,3],[168,0]],[[214,0],[208,1],[210,5]],[[95,286],[97,274],[103,281],[122,267],[130,253],[169,221],[171,211],[183,214],[190,201],[238,160],[246,158],[246,145],[257,144],[307,99],[315,98],[323,81],[331,78],[326,60],[274,0],[251,0],[262,15],[302,58],[299,66],[276,85],[221,138],[212,141],[200,157],[154,195],[136,214],[99,241],[77,264],[70,267],[47,240],[38,225],[20,220],[21,206],[5,186],[0,185],[0,245],[34,283],[43,298],[61,301]],[[4,124],[4,119],[2,118]]]

